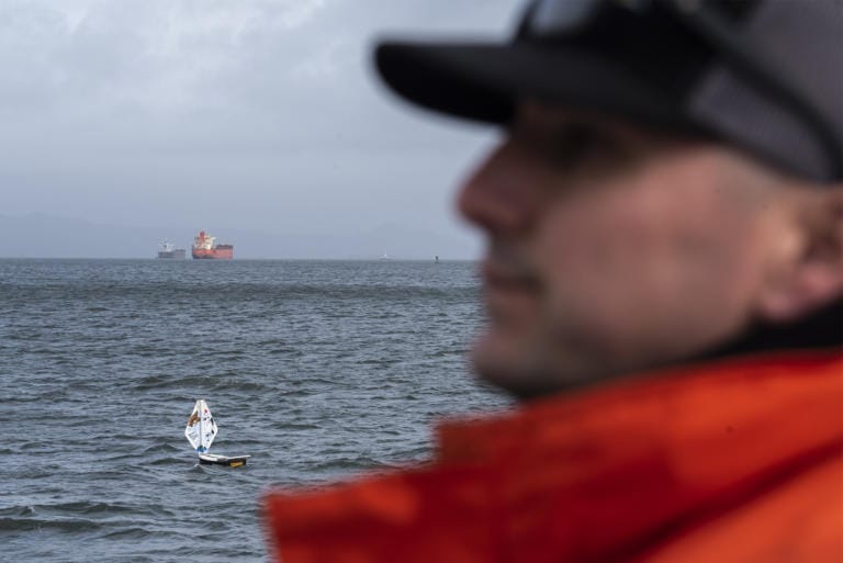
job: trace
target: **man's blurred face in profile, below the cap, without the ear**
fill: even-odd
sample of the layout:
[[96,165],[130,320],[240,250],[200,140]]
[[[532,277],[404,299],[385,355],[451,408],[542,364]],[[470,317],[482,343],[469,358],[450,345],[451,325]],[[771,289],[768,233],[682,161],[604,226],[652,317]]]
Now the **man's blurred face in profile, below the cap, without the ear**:
[[713,145],[525,105],[459,195],[488,240],[477,372],[540,395],[738,333],[774,250],[771,183]]

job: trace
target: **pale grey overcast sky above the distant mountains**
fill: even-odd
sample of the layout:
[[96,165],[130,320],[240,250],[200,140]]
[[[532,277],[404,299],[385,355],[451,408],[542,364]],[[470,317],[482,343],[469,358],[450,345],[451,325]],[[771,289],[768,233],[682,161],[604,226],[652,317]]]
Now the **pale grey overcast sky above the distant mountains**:
[[389,223],[472,257],[453,188],[495,132],[396,100],[371,48],[384,34],[503,37],[519,9],[0,0],[0,216],[330,236]]

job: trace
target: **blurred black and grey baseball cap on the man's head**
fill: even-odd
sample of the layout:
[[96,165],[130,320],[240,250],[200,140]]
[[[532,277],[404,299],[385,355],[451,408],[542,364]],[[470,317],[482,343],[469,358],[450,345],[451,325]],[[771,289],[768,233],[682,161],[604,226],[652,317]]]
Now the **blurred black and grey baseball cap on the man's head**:
[[382,41],[420,106],[506,124],[532,99],[728,143],[843,179],[843,1],[536,0],[512,38]]

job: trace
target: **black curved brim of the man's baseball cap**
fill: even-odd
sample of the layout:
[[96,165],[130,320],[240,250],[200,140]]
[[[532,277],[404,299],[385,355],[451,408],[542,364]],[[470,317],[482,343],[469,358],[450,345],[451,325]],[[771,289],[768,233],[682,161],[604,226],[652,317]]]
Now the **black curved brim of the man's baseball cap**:
[[631,71],[559,44],[383,42],[375,64],[400,95],[468,120],[508,123],[524,100],[609,113],[671,128],[696,128],[675,98]]

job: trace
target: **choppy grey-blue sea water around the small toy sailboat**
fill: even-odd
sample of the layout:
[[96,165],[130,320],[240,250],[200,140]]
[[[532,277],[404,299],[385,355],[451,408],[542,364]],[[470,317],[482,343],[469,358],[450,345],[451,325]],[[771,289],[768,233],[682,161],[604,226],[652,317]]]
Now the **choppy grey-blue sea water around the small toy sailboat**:
[[[497,409],[472,262],[0,260],[0,560],[269,561],[270,486],[424,459]],[[199,465],[196,398],[220,427]]]

